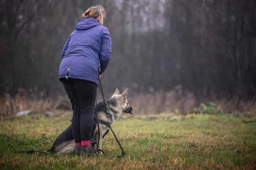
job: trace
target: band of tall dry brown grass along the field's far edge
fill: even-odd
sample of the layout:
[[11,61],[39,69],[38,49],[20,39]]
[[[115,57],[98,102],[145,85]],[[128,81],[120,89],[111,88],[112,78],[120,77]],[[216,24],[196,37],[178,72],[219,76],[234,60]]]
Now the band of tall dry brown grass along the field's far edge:
[[[111,95],[106,95],[110,97]],[[102,100],[101,95],[97,96],[98,101]],[[241,101],[237,105],[237,99],[232,100],[197,100],[189,92],[183,92],[176,88],[170,92],[155,92],[154,94],[136,94],[128,96],[129,104],[133,107],[135,114],[160,114],[161,112],[175,112],[176,114],[187,114],[193,112],[201,103],[206,105],[209,102],[217,104],[224,112],[251,112],[256,115],[256,101]],[[0,115],[14,115],[19,111],[54,111],[56,109],[71,110],[71,104],[67,96],[58,96],[56,100],[51,98],[38,99],[29,95],[18,93],[14,98],[5,94],[0,98]]]

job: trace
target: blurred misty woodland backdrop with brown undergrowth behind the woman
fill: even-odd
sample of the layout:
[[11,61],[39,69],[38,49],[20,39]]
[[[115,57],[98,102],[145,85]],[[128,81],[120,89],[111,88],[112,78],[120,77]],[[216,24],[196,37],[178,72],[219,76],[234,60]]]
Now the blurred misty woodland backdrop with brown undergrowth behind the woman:
[[129,88],[142,112],[255,106],[255,0],[0,0],[0,101],[11,111],[30,106],[24,95],[66,96],[61,50],[91,5],[103,5],[112,36],[106,93]]

